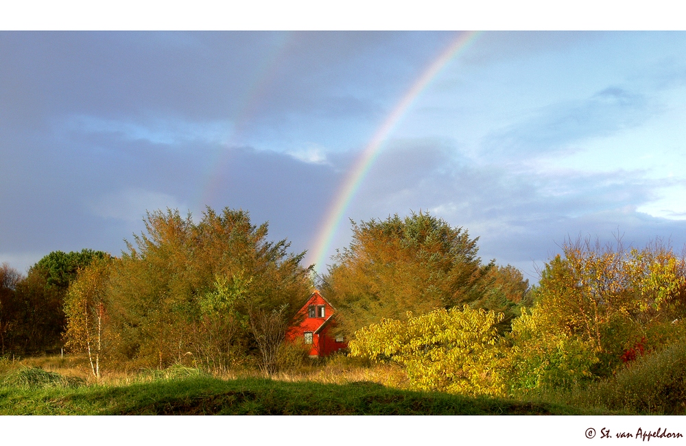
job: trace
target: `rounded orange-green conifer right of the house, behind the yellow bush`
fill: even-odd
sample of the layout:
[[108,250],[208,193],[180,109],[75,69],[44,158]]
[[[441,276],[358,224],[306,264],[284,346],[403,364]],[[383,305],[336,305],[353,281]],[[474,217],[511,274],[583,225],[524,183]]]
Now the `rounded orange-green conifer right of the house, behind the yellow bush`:
[[352,224],[353,240],[333,257],[322,284],[348,335],[407,311],[484,299],[493,264],[481,264],[477,238],[461,227],[423,212]]

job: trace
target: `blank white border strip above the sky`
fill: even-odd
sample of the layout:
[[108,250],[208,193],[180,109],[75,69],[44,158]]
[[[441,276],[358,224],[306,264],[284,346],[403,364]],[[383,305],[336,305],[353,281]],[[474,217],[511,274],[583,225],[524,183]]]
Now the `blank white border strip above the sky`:
[[25,0],[5,30],[686,29],[674,0]]

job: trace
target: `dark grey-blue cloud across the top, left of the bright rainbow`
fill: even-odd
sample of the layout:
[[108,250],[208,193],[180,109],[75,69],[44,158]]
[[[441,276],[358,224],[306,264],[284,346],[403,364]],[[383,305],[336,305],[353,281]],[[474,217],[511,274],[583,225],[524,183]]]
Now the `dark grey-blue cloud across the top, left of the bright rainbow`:
[[[375,116],[451,33],[3,32],[0,116],[244,121]],[[386,82],[379,84],[379,79]],[[257,127],[255,127],[257,126]]]

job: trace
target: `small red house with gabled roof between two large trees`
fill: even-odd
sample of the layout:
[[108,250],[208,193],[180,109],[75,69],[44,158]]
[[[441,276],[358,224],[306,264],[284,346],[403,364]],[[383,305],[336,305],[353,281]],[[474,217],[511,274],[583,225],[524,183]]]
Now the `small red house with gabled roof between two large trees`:
[[286,339],[293,343],[302,340],[305,345],[309,345],[310,358],[328,356],[334,351],[347,348],[348,343],[343,336],[333,335],[335,311],[331,303],[318,290],[314,290],[296,314],[298,323],[289,327]]

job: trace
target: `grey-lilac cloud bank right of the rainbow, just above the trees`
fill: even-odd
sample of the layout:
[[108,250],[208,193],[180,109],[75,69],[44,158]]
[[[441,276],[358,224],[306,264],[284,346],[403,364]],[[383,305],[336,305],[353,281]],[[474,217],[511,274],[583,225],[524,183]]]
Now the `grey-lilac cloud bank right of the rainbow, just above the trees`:
[[[472,162],[438,140],[405,140],[379,156],[346,216],[359,221],[429,210],[479,236],[484,260],[513,264],[536,280],[534,262],[542,265],[567,236],[612,240],[619,230],[627,243],[661,236],[681,247],[686,223],[637,211],[663,184],[641,171],[534,175]],[[349,242],[347,223],[341,232],[337,247]]]

